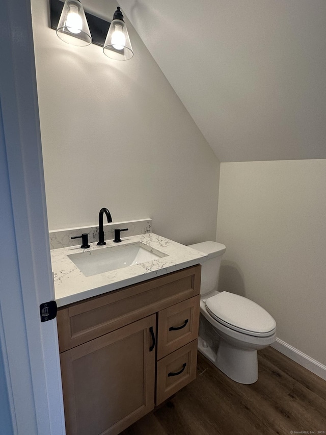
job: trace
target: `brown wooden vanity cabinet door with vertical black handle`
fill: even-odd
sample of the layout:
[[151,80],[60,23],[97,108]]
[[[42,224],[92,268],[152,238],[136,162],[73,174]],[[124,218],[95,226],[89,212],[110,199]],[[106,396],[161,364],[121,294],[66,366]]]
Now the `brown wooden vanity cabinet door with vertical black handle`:
[[154,407],[156,315],[60,355],[67,435],[115,435]]

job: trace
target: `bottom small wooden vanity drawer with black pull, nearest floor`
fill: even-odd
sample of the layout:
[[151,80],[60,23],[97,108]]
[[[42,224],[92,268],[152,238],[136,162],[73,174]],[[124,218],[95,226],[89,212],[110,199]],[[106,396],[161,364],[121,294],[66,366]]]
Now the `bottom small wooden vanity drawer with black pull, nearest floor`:
[[156,405],[196,378],[197,342],[194,340],[157,362]]

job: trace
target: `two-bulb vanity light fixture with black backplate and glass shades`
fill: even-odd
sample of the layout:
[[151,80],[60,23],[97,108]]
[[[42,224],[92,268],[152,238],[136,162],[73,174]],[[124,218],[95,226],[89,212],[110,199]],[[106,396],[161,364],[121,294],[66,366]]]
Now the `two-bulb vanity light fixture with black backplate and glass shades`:
[[115,60],[128,60],[133,56],[128,31],[120,7],[112,22],[87,12],[79,0],[50,0],[51,28],[63,41],[86,46],[91,43],[103,47],[103,53]]

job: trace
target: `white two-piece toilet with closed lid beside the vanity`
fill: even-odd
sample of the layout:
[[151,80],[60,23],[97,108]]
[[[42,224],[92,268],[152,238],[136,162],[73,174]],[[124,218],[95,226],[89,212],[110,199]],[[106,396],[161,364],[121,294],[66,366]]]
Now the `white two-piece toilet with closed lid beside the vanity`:
[[274,343],[276,322],[257,303],[217,291],[225,245],[202,242],[189,247],[208,255],[201,262],[198,350],[236,382],[254,383],[258,379],[257,350]]

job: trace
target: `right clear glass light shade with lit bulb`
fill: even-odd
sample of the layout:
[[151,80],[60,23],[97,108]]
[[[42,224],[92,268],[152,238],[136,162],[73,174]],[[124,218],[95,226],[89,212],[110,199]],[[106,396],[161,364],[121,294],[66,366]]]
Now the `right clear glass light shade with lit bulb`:
[[103,46],[105,56],[114,60],[128,60],[133,56],[133,51],[124,21],[114,19]]

